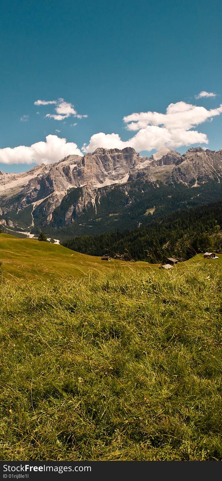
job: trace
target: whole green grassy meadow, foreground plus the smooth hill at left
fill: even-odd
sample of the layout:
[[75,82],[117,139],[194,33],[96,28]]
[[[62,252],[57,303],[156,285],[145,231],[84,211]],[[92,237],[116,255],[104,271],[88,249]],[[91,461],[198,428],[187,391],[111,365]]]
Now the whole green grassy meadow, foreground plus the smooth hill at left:
[[11,242],[3,266],[35,254],[41,279],[0,280],[1,459],[222,460],[222,256],[164,271],[76,254],[100,275],[65,281],[42,269],[69,273],[68,249]]

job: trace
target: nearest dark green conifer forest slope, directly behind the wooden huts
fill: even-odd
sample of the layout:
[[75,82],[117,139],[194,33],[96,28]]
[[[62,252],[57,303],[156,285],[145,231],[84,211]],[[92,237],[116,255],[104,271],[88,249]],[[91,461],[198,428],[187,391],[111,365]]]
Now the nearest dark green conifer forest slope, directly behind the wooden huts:
[[63,245],[84,254],[162,262],[169,255],[187,259],[208,249],[221,252],[222,201],[177,211],[148,226],[99,236],[75,237]]

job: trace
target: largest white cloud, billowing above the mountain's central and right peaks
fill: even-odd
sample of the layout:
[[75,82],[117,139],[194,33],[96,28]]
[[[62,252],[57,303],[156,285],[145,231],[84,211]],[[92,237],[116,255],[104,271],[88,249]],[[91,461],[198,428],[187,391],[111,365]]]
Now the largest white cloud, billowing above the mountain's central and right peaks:
[[222,104],[217,109],[207,110],[186,102],[171,103],[165,114],[158,112],[140,112],[123,118],[129,131],[138,131],[127,141],[122,141],[118,134],[94,134],[88,145],[84,144],[82,152],[93,152],[97,147],[106,149],[123,149],[133,147],[136,151],[151,151],[163,145],[175,147],[192,144],[208,144],[207,135],[191,130],[199,124],[222,113]]

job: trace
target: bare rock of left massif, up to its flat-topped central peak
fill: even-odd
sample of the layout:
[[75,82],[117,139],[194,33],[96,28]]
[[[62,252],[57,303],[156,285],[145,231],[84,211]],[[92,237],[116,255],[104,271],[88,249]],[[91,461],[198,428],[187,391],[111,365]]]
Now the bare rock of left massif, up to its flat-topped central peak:
[[[23,174],[0,174],[0,205],[4,215],[32,204],[48,223],[68,190],[89,189],[128,180],[129,171],[141,162],[134,149],[96,149],[84,157],[69,155],[51,165],[38,165]],[[90,194],[91,195],[91,194]],[[69,216],[68,216],[69,217]]]

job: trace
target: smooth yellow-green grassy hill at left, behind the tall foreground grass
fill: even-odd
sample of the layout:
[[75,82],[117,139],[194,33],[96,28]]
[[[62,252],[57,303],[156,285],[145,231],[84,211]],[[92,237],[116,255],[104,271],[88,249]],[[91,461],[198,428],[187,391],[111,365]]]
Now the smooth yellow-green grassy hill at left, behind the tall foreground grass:
[[6,278],[59,278],[84,276],[89,270],[97,273],[121,267],[118,261],[104,262],[73,252],[66,247],[34,239],[20,239],[0,234],[0,261]]

